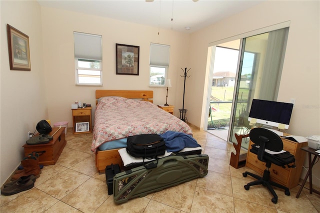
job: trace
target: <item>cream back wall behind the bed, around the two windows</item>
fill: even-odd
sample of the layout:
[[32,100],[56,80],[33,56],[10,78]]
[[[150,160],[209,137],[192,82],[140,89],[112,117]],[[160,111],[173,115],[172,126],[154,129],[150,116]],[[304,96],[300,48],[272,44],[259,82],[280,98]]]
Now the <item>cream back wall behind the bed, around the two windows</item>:
[[[178,76],[187,61],[188,34],[160,29],[158,35],[157,27],[47,7],[41,8],[41,20],[48,112],[53,123],[66,120],[72,126],[70,104],[74,100],[91,103],[93,115],[95,89],[153,90],[153,103],[164,104],[166,89],[148,87],[150,42],[170,45],[168,103],[178,105],[174,97],[175,90],[183,89]],[[75,85],[73,31],[102,35],[102,87]],[[139,46],[139,75],[115,74],[115,43]]]

